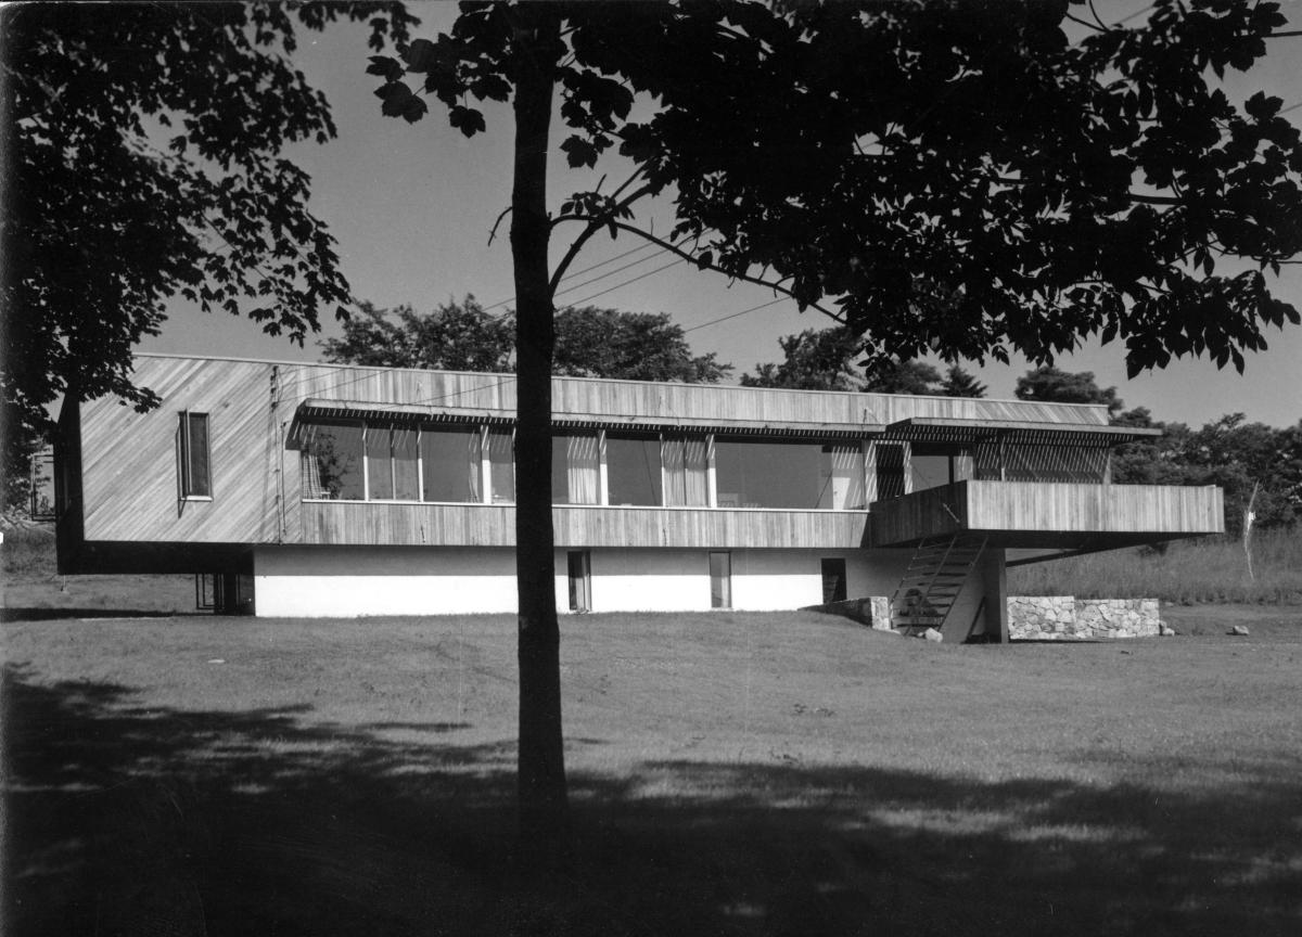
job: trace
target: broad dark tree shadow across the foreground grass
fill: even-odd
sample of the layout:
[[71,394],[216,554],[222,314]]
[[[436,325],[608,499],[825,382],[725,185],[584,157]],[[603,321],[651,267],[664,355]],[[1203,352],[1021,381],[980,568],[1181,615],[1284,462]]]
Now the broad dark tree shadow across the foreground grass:
[[[513,871],[514,746],[9,669],[7,933],[1293,934],[1297,765],[1203,795],[874,768],[572,777]],[[1243,767],[1238,767],[1243,770]]]

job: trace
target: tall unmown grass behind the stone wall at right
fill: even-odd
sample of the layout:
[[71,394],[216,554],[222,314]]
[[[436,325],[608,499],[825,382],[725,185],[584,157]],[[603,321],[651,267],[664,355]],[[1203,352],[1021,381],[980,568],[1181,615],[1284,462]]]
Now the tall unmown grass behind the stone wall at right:
[[1012,595],[1081,599],[1161,599],[1167,603],[1302,604],[1302,530],[1253,539],[1253,573],[1240,540],[1208,537],[1151,548],[1090,553],[1014,566]]

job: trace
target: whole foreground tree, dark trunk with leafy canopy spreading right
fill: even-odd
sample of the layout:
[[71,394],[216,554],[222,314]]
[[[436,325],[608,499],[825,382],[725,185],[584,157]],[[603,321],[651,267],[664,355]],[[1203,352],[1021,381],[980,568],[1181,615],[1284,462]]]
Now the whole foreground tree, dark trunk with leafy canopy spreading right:
[[[1090,25],[1077,43],[1066,16],[1039,1],[493,4],[372,59],[391,116],[421,120],[427,94],[467,137],[486,128],[477,102],[509,100],[514,121],[526,845],[565,829],[552,294],[594,236],[767,284],[904,360],[1013,349],[1048,363],[1099,334],[1125,342],[1131,371],[1180,354],[1242,367],[1264,327],[1298,323],[1260,272],[1302,250],[1298,131],[1279,99],[1241,109],[1208,83],[1264,55],[1277,4],[1159,0],[1146,25]],[[617,148],[633,172],[552,213],[555,96],[572,168]],[[634,224],[661,194],[667,237]],[[561,225],[577,234],[552,269]],[[1220,256],[1255,269],[1216,275]]]

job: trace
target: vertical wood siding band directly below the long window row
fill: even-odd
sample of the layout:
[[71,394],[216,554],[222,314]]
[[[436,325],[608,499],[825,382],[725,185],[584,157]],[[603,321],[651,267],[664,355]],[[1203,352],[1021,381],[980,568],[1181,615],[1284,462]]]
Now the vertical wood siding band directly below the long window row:
[[[513,547],[503,505],[303,504],[303,543]],[[553,508],[557,547],[844,548],[865,545],[863,511]]]

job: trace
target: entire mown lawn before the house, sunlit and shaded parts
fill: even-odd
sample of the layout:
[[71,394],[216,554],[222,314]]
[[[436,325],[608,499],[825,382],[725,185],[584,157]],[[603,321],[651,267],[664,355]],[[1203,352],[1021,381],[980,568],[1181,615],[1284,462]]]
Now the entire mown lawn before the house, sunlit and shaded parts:
[[512,619],[12,621],[7,933],[1302,933],[1302,616],[1234,622],[568,618],[525,877]]

